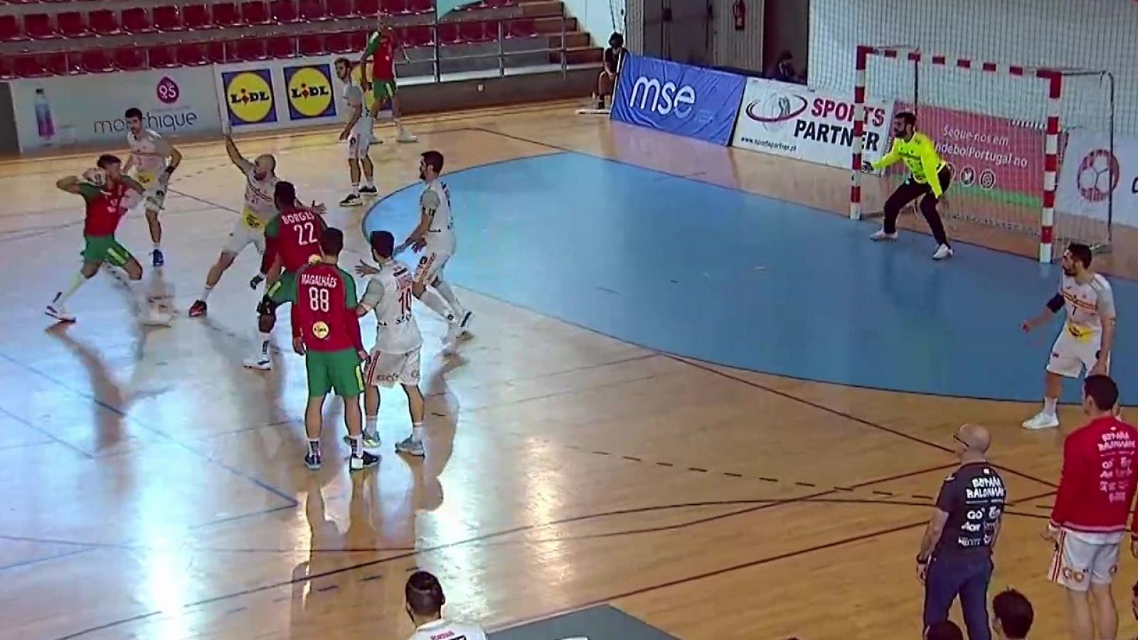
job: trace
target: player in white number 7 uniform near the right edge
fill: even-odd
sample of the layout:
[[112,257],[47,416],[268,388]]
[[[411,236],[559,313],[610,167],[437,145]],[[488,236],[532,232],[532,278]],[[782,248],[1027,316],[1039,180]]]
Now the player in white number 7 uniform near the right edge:
[[1044,385],[1044,410],[1025,420],[1025,429],[1059,426],[1056,405],[1063,392],[1063,378],[1078,378],[1083,371],[1110,374],[1114,346],[1114,293],[1106,278],[1090,270],[1090,247],[1072,243],[1063,253],[1059,290],[1047,302],[1047,310],[1023,322],[1024,331],[1047,322],[1066,307],[1063,330],[1052,346]]

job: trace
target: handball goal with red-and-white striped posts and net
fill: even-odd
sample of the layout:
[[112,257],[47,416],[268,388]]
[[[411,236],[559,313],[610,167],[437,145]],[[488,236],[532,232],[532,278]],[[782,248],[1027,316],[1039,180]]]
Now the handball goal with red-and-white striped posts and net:
[[[951,166],[951,187],[938,207],[950,237],[1007,248],[1034,238],[1041,262],[1070,241],[1108,249],[1119,178],[1111,74],[861,46],[855,104],[861,123],[855,122],[850,218],[880,216],[908,175],[904,163],[876,174],[857,171],[865,117],[872,106],[888,105],[915,113],[917,129]],[[916,212],[916,203],[907,212]]]

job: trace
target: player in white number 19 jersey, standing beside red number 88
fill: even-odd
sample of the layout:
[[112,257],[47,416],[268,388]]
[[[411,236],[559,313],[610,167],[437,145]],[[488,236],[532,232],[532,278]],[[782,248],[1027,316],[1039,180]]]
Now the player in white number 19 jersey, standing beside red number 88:
[[379,446],[376,420],[379,416],[379,387],[403,386],[411,413],[411,435],[395,445],[399,453],[424,456],[423,394],[419,391],[420,352],[423,337],[411,313],[411,269],[394,260],[395,237],[388,231],[372,231],[369,237],[371,256],[379,270],[368,280],[368,289],[356,306],[356,313],[376,312],[376,346],[364,370],[364,428],[365,448]]

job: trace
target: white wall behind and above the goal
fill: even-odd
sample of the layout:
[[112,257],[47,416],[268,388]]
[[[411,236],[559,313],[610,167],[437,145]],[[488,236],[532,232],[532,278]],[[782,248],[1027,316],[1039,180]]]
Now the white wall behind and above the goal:
[[[1029,66],[1112,72],[1115,131],[1138,133],[1138,2],[1135,0],[811,0],[809,82],[853,91],[858,44],[908,46],[924,54]],[[872,96],[912,98],[914,65],[874,60]],[[1041,122],[1041,81],[921,65],[920,99]],[[1105,126],[1107,84],[1069,79],[1065,128]]]

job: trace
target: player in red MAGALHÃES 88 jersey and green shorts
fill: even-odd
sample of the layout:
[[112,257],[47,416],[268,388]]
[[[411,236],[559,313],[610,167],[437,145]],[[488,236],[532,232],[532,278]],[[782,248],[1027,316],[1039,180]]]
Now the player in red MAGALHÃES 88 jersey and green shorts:
[[344,232],[325,228],[320,233],[320,260],[297,272],[292,348],[304,355],[308,374],[308,404],[304,411],[308,451],[304,463],[310,469],[320,468],[324,397],[335,389],[344,400],[344,424],[352,445],[348,469],[355,471],[379,462],[379,458],[363,450],[360,394],[364,385],[360,364],[368,352],[356,315],[355,280],[337,265],[341,251]]

